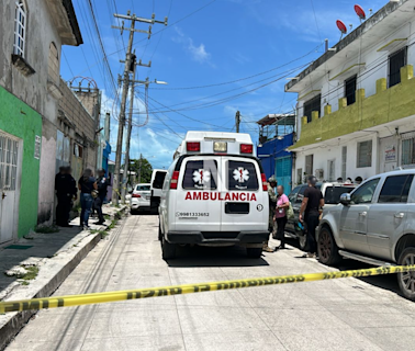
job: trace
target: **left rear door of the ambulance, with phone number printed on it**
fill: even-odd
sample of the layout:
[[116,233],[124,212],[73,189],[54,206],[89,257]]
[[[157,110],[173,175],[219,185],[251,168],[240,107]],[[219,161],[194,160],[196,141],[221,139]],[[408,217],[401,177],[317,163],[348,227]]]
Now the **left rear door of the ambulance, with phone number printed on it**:
[[176,195],[176,226],[180,231],[220,231],[221,157],[183,159]]

